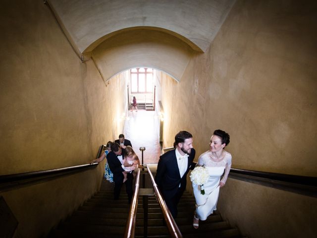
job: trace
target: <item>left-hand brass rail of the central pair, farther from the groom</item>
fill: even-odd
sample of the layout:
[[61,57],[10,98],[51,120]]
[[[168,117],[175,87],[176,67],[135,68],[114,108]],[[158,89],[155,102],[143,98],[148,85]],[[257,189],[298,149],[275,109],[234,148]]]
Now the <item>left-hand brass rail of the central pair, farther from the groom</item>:
[[137,178],[135,181],[135,188],[134,193],[132,197],[132,202],[130,206],[130,212],[129,217],[127,220],[127,225],[125,226],[125,232],[124,232],[124,238],[133,238],[134,232],[135,232],[135,221],[137,216],[137,209],[138,209],[138,193],[139,193],[139,187],[140,187],[140,174],[141,169],[138,169]]

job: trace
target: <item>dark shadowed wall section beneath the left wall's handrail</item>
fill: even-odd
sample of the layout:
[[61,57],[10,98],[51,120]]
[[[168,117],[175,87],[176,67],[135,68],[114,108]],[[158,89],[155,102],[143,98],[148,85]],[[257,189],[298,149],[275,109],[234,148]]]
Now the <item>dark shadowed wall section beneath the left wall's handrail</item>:
[[94,194],[101,184],[101,166],[82,173],[1,192],[18,221],[15,238],[46,237]]

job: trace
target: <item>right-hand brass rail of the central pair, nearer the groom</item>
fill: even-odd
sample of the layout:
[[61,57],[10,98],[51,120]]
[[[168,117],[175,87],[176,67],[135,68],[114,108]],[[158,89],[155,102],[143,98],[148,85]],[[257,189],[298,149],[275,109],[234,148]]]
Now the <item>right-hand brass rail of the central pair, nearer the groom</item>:
[[159,205],[162,209],[162,213],[163,213],[166,225],[167,225],[167,229],[169,231],[169,235],[173,238],[182,238],[183,236],[180,233],[178,226],[176,225],[176,222],[174,221],[174,218],[172,217],[172,214],[170,213],[170,211],[169,211],[169,209],[168,209],[168,207],[167,207],[167,205],[166,205],[166,203],[165,203],[165,201],[164,201],[164,199],[159,191],[158,185],[156,184],[156,182],[154,180],[152,172],[148,166],[147,166],[147,168],[148,168],[148,173],[150,175],[151,181],[153,183],[154,191],[155,191],[157,198],[158,198],[158,201],[159,201]]

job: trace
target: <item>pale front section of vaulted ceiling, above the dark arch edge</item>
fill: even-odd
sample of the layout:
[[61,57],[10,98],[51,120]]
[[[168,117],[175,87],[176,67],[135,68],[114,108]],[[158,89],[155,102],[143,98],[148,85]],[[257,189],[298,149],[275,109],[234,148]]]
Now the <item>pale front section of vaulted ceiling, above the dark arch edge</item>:
[[81,53],[93,50],[105,36],[131,27],[175,32],[187,39],[185,42],[194,50],[205,52],[234,3],[234,0],[48,1]]

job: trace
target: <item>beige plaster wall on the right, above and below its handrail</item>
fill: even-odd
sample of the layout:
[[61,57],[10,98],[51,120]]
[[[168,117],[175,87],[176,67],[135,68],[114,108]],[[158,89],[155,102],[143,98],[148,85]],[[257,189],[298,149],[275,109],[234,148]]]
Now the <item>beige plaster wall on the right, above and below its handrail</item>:
[[[314,1],[237,1],[179,83],[162,74],[164,147],[188,130],[198,160],[220,128],[231,136],[234,168],[316,177],[316,9]],[[316,235],[316,198],[234,179],[220,193],[220,212],[244,235]]]

